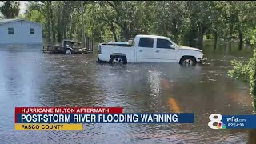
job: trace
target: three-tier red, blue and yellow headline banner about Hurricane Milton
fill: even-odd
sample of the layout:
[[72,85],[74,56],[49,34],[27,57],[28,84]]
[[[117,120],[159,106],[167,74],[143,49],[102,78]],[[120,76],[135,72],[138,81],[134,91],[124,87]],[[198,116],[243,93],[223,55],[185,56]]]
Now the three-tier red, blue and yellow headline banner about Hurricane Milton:
[[123,113],[122,107],[15,107],[15,130],[82,130],[83,123],[194,123],[192,113]]

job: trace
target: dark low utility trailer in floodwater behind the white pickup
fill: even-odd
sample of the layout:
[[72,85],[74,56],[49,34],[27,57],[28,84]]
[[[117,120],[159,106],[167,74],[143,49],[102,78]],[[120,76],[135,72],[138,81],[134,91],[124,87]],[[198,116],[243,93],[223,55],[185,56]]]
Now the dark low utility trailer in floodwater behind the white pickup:
[[74,42],[71,39],[62,40],[61,45],[43,46],[42,52],[54,54],[86,54],[86,48],[81,48],[81,42]]

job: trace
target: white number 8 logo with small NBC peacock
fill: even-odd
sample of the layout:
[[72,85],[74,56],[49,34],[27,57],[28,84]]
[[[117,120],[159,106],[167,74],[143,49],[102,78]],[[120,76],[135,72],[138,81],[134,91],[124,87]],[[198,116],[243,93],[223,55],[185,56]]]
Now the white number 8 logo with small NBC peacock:
[[[226,125],[222,122],[221,114],[210,114],[209,119],[208,126],[211,129],[226,129]],[[214,123],[217,123],[217,126],[214,126]]]

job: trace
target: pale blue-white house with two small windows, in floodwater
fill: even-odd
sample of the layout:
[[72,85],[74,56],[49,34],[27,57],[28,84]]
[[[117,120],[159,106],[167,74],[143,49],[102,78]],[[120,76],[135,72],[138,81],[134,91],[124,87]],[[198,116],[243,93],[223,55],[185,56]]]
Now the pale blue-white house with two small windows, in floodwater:
[[0,19],[0,44],[42,44],[42,25],[26,19]]

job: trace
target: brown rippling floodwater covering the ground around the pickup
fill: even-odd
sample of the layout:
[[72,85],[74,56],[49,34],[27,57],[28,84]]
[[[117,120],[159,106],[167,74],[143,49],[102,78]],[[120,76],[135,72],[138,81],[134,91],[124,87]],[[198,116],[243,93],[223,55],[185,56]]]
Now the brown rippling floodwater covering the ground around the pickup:
[[[250,46],[205,42],[208,61],[97,64],[94,54],[43,54],[39,46],[1,46],[1,143],[246,143],[246,130],[211,130],[209,115],[252,114],[249,86],[227,76]],[[15,106],[122,106],[126,113],[186,112],[194,124],[85,124],[84,130],[14,130]]]

